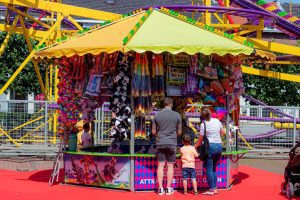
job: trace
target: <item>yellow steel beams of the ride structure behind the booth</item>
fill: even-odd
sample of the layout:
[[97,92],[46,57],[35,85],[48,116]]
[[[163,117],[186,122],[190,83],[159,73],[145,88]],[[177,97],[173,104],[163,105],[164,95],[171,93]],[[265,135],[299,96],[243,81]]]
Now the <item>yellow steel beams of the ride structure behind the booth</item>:
[[[199,5],[200,2],[197,0],[192,0],[192,5]],[[211,0],[203,0],[203,4],[205,6],[211,6]],[[83,17],[86,19],[92,20],[110,20],[113,18],[117,18],[120,14],[105,12],[100,10],[87,9],[82,7],[71,6],[67,4],[63,4],[61,0],[0,0],[0,6],[5,6],[7,11],[14,12],[15,16],[12,23],[3,23],[0,24],[0,31],[7,32],[6,38],[0,47],[0,57],[5,51],[5,47],[9,41],[9,38],[12,34],[23,34],[27,47],[30,51],[28,57],[23,61],[23,63],[18,67],[18,69],[11,75],[7,83],[0,88],[0,95],[6,91],[9,85],[15,80],[18,74],[26,67],[28,62],[33,62],[34,69],[41,86],[41,90],[44,93],[45,99],[50,101],[56,101],[58,99],[57,88],[53,87],[58,83],[58,69],[57,66],[50,65],[47,68],[47,73],[45,78],[42,77],[39,70],[38,60],[33,59],[33,55],[35,54],[35,49],[32,47],[30,43],[30,39],[34,39],[39,41],[37,46],[41,46],[42,44],[51,45],[56,42],[58,38],[62,38],[64,36],[72,36],[76,34],[78,31],[83,30],[83,27],[76,22],[74,17]],[[229,0],[224,0],[224,6],[229,7]],[[46,22],[40,19],[37,19],[36,16],[32,15],[30,9],[43,10],[44,12],[51,13],[48,15]],[[195,13],[192,15],[194,16]],[[212,23],[212,16],[218,19],[217,24]],[[76,29],[69,30],[64,28],[63,20],[67,19],[71,22]],[[275,52],[280,54],[288,54],[300,56],[300,48],[295,46],[289,46],[285,44],[264,41],[262,40],[262,31],[264,30],[264,19],[260,19],[260,23],[258,25],[243,25],[243,24],[230,24],[228,22],[227,16],[225,14],[219,14],[218,11],[209,13],[203,12],[202,17],[198,20],[201,20],[204,24],[215,27],[220,30],[238,30],[235,32],[235,37],[240,39],[241,41],[251,42],[253,47],[258,50]],[[31,23],[36,23],[40,27],[40,30],[34,29],[33,27],[27,27],[26,22],[30,21]],[[20,26],[17,26],[17,24]],[[257,38],[245,38],[243,35],[249,32],[257,32]],[[270,53],[261,53],[261,56],[269,57]],[[276,64],[277,61],[269,61],[266,64]],[[280,64],[300,64],[298,62],[281,62]],[[292,81],[292,82],[300,82],[300,76],[292,75],[292,74],[284,74],[278,72],[272,72],[269,70],[258,70],[251,67],[243,66],[243,73],[253,74],[258,76],[265,76],[270,78],[277,78],[280,80]],[[53,89],[54,88],[54,89]],[[53,119],[53,120],[52,120]],[[56,120],[57,114],[54,113],[52,118],[50,118],[50,122],[53,123],[51,127],[53,127],[56,132]],[[22,126],[22,125],[21,125]],[[21,127],[20,126],[20,127]],[[19,128],[19,127],[16,127]],[[0,135],[4,134],[7,136],[9,141],[12,141],[17,146],[18,141],[14,140],[10,137],[9,131],[5,131],[0,127]],[[52,141],[56,142],[55,139]]]

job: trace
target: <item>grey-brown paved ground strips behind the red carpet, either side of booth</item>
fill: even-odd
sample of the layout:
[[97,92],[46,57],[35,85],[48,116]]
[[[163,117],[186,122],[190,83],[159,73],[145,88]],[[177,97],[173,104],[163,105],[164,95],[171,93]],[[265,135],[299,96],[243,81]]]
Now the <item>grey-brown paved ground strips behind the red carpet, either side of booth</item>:
[[[52,169],[52,158],[44,157],[10,157],[0,158],[0,170],[14,170],[14,171],[34,171]],[[246,159],[240,160],[239,165],[246,165],[266,171],[283,174],[284,168],[287,164],[287,159],[274,160],[274,159]]]

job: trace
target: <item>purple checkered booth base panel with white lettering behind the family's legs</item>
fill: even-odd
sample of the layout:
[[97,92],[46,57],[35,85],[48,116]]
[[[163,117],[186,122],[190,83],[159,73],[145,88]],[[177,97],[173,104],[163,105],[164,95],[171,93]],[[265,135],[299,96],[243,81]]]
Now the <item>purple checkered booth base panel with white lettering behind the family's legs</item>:
[[[226,188],[227,183],[227,159],[222,156],[222,159],[217,166],[217,187]],[[156,184],[156,170],[157,162],[155,157],[136,157],[135,158],[135,173],[134,173],[134,188],[135,190],[154,190],[157,189]],[[164,169],[164,186],[167,183],[167,167]],[[208,188],[205,168],[203,168],[203,162],[199,159],[196,160],[196,178],[198,188]],[[172,187],[174,189],[182,189],[182,169],[181,160],[176,159],[174,165],[174,178]],[[191,187],[191,182],[189,180],[189,187]]]

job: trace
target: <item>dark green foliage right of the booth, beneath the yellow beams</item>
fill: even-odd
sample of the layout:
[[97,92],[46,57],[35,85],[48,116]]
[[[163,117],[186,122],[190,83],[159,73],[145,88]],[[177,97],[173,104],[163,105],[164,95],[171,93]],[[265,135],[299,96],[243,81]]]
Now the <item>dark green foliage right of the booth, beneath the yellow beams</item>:
[[[263,69],[262,65],[255,68]],[[299,65],[273,65],[270,70],[288,74],[300,75]],[[243,75],[247,95],[265,102],[272,106],[299,106],[300,83],[282,81],[275,78]]]

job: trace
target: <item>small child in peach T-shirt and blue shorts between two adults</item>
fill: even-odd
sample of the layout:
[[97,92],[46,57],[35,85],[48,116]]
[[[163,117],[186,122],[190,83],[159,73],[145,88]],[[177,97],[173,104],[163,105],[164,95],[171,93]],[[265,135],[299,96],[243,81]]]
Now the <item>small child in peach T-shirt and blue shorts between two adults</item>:
[[195,172],[195,158],[198,157],[198,153],[195,147],[191,146],[191,136],[183,135],[182,142],[183,147],[180,148],[181,162],[182,162],[182,178],[184,194],[187,194],[187,180],[190,177],[192,180],[194,194],[198,194],[196,172]]

